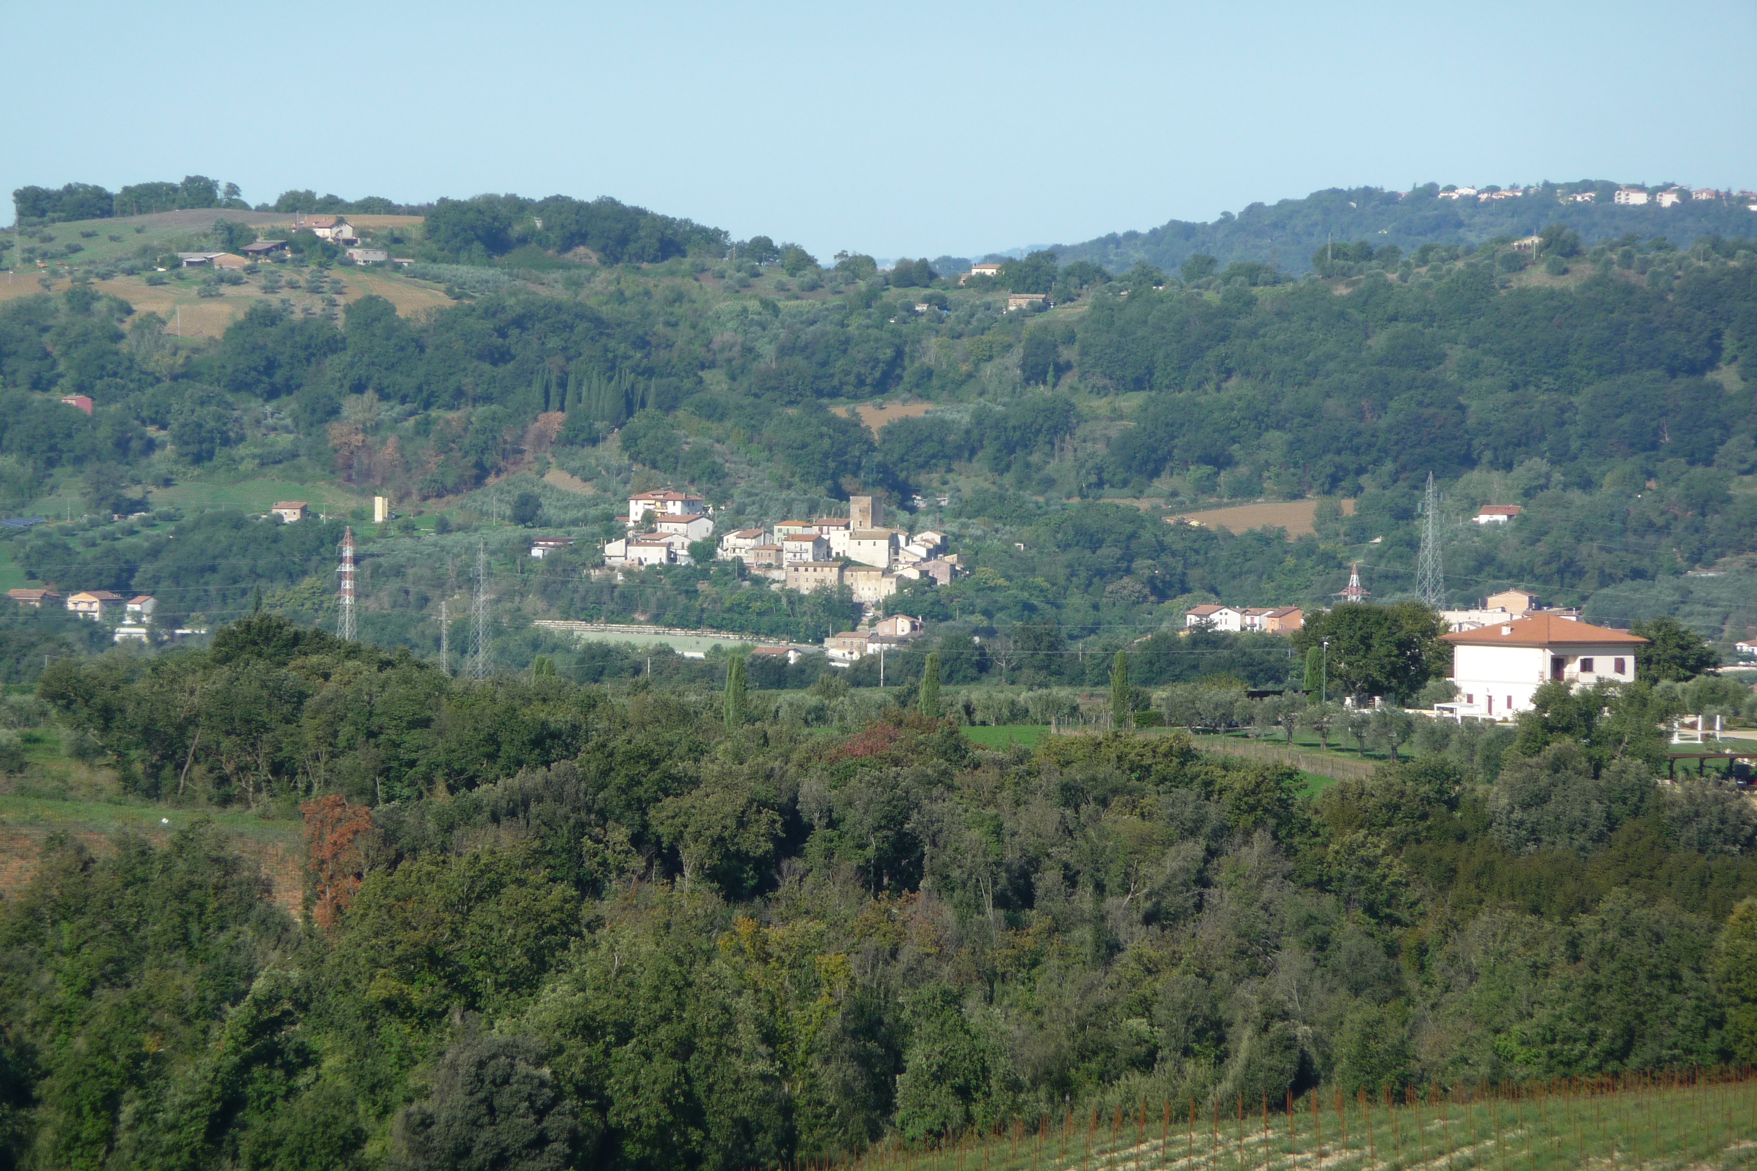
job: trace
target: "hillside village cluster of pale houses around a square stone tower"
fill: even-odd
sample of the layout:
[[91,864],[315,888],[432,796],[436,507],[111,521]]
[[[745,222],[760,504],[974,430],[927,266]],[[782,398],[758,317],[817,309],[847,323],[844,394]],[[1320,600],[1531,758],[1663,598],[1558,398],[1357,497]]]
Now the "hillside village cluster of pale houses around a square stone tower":
[[[689,548],[713,535],[706,500],[669,488],[631,495],[625,523],[627,535],[604,542],[608,567],[687,565]],[[566,537],[550,542],[571,544]],[[543,557],[543,544],[532,542],[531,555]],[[945,534],[886,527],[884,504],[873,497],[852,497],[847,516],[736,528],[720,535],[713,557],[741,560],[754,574],[799,593],[847,586],[866,606],[896,593],[901,581],[945,585],[961,569],[958,555],[945,551]]]

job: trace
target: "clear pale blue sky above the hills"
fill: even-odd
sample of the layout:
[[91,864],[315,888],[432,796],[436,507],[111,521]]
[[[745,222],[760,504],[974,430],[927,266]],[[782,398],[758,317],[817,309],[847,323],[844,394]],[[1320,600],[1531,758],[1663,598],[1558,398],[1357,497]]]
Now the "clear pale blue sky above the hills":
[[1757,188],[1757,4],[28,5],[5,191],[613,195],[979,255],[1327,186]]

